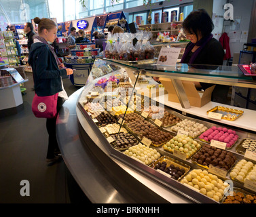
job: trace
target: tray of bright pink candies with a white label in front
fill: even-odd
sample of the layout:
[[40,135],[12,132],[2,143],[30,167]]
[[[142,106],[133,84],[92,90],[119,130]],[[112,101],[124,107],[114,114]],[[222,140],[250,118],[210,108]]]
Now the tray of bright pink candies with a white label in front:
[[210,143],[211,140],[217,140],[219,142],[226,143],[226,149],[231,149],[232,146],[238,141],[239,136],[236,131],[229,130],[226,127],[211,127],[199,136],[199,139],[203,142]]

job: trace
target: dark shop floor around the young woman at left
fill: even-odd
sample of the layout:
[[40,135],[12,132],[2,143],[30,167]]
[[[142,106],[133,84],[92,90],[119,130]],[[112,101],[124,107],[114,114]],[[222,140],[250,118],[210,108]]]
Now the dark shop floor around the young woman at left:
[[[0,118],[0,203],[82,202],[84,195],[76,183],[71,186],[67,183],[67,178],[72,179],[65,163],[60,161],[50,167],[45,163],[48,148],[45,119],[35,118],[31,111],[33,77],[31,73],[26,75],[29,81],[24,83],[24,109]],[[63,83],[69,96],[77,90],[69,79],[63,79]],[[29,196],[20,195],[22,180],[29,181]],[[69,193],[69,189],[73,191]]]

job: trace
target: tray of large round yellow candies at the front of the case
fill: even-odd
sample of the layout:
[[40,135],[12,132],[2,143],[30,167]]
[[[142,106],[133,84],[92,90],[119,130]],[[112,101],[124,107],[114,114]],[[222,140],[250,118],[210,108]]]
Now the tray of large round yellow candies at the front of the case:
[[229,187],[221,178],[208,173],[207,170],[200,169],[191,170],[189,174],[183,177],[181,183],[217,202],[221,201],[224,190]]

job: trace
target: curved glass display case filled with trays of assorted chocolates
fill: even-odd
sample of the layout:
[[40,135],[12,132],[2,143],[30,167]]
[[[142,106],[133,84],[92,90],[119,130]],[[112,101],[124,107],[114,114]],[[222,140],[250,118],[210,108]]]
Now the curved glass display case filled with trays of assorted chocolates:
[[256,111],[211,102],[213,90],[198,98],[194,81],[256,88],[238,66],[97,58],[77,117],[105,154],[167,193],[196,203],[226,203],[235,190],[254,195]]

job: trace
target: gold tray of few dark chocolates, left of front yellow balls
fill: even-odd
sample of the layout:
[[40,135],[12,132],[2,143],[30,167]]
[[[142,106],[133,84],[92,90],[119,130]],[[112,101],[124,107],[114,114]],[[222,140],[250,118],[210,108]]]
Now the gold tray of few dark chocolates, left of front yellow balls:
[[[175,160],[175,159],[173,159],[173,158],[171,158],[171,157],[165,156],[165,155],[162,156],[162,157],[160,157],[158,160],[154,161],[153,163],[151,163],[151,164],[149,165],[149,167],[154,168],[155,165],[156,165],[158,162],[162,162],[162,161],[165,161],[165,162],[166,162],[166,167],[169,167],[170,164],[173,164],[173,165],[175,165],[175,167],[179,167],[180,169],[183,168],[183,169],[185,170],[185,173],[183,174],[183,176],[181,176],[181,177],[178,179],[178,181],[181,180],[181,178],[183,178],[183,177],[187,174],[187,172],[189,172],[189,170],[190,170],[190,166],[189,166],[189,165],[187,165],[187,164],[185,164],[185,163],[182,163],[181,161],[177,161],[177,160]],[[158,171],[158,170],[157,170],[157,171]],[[163,172],[164,172],[164,171],[163,171]],[[164,173],[165,173],[165,172],[164,172]],[[168,176],[167,173],[166,173],[166,176]],[[171,178],[171,177],[170,177],[170,178]]]

